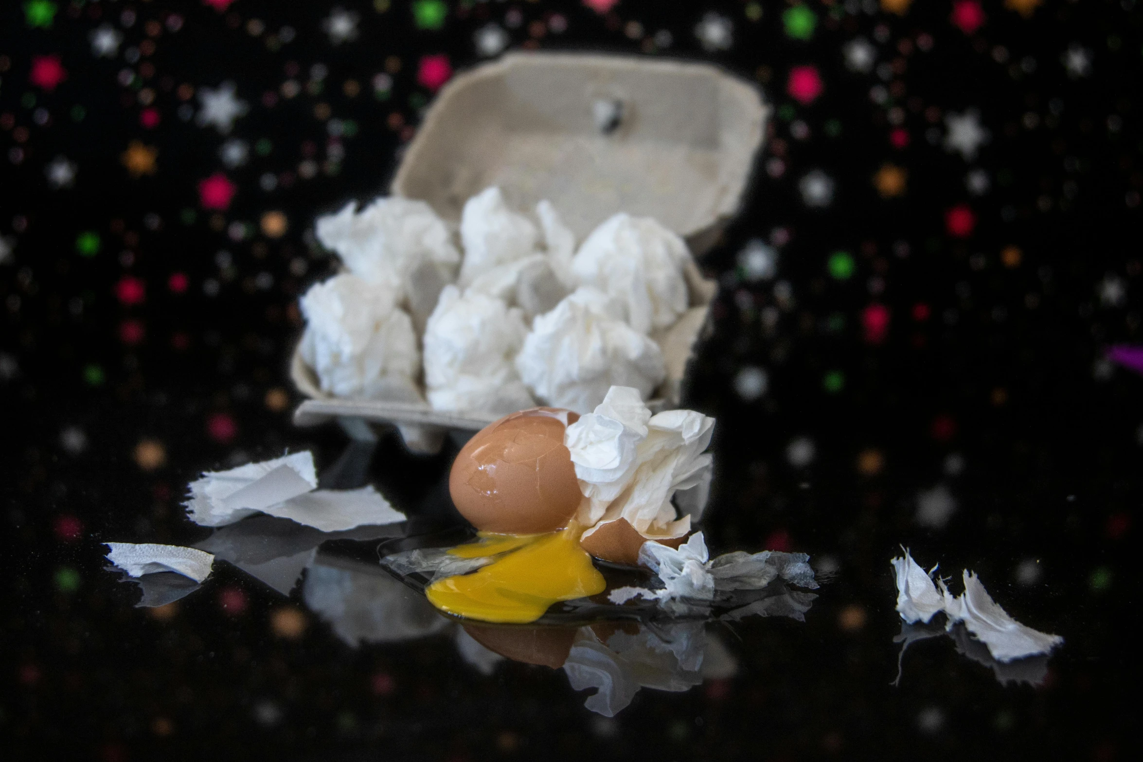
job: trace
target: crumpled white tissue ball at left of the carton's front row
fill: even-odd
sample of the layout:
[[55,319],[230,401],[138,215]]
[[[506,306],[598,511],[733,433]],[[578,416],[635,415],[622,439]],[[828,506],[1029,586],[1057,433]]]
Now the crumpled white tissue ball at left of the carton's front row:
[[334,396],[421,401],[421,352],[413,320],[387,283],[342,273],[302,297],[301,353]]

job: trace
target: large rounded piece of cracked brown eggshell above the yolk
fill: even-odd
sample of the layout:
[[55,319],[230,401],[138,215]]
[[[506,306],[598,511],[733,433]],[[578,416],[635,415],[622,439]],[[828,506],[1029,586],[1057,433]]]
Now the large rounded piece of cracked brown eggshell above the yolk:
[[448,491],[456,510],[477,529],[503,535],[567,527],[583,495],[563,430],[578,418],[533,408],[485,426],[453,462]]

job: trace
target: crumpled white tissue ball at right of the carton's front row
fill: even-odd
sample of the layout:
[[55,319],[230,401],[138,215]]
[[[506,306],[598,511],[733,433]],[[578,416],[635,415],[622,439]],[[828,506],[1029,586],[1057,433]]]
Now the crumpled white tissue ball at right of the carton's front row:
[[581,414],[612,386],[649,398],[666,376],[658,345],[623,322],[614,300],[594,288],[580,288],[538,315],[515,367],[544,404]]

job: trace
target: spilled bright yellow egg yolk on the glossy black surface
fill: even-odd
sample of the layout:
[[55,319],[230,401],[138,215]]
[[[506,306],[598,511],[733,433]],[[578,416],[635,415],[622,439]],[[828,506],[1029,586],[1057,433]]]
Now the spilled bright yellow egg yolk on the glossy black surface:
[[480,558],[506,553],[470,575],[434,581],[425,591],[441,611],[470,619],[523,624],[535,621],[557,601],[604,592],[604,575],[580,546],[575,523],[546,535],[486,535],[449,553]]

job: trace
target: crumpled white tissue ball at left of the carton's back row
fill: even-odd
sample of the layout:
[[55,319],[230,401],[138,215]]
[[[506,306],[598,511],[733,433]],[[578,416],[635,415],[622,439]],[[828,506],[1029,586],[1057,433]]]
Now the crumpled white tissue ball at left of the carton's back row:
[[445,222],[414,199],[383,196],[361,211],[351,201],[337,214],[319,217],[314,233],[351,273],[386,283],[401,297],[418,267],[431,264],[450,282],[461,262]]

